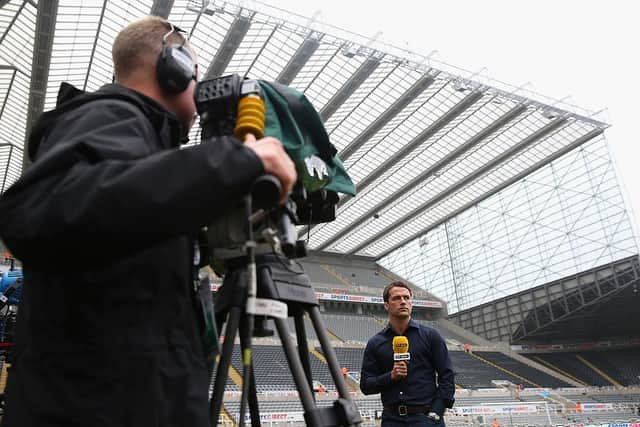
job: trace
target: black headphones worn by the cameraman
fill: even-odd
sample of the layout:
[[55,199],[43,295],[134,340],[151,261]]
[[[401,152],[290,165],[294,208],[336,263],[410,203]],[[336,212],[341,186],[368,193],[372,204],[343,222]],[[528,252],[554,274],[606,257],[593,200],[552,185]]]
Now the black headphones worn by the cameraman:
[[162,53],[156,64],[156,77],[163,92],[169,96],[178,95],[184,92],[191,80],[198,78],[198,64],[193,63],[191,54],[184,47],[187,38],[184,37],[182,44],[168,44],[167,38],[173,33],[184,31],[173,24],[167,22],[169,32],[162,37]]

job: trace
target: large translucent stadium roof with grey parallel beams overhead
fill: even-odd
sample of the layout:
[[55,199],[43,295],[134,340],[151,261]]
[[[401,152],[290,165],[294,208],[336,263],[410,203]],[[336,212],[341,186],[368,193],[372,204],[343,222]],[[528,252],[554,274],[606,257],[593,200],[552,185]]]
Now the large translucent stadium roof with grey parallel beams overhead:
[[0,0],[0,192],[19,177],[26,129],[60,83],[110,82],[113,38],[150,13],[188,32],[206,76],[276,80],[320,111],[358,195],[341,199],[336,221],[300,230],[314,250],[382,257],[607,127],[525,87],[241,4]]

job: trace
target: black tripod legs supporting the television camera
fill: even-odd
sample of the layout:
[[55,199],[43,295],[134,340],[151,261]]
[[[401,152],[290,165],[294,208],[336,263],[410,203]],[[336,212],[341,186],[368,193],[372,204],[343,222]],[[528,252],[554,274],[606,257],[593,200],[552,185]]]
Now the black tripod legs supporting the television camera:
[[[289,335],[289,326],[286,316],[282,313],[265,313],[273,318],[280,341],[282,343],[289,368],[298,390],[300,401],[304,409],[304,418],[308,426],[355,426],[361,423],[360,414],[351,399],[347,389],[338,359],[331,347],[322,320],[318,300],[304,271],[292,270],[288,258],[277,254],[265,254],[256,256],[257,297],[286,304],[287,312],[294,318],[297,335],[298,351],[296,352],[293,339]],[[249,273],[246,269],[245,259],[230,260],[228,272],[216,298],[216,323],[218,330],[226,321],[226,331],[222,353],[216,372],[215,385],[211,397],[211,421],[216,423],[220,415],[224,388],[229,372],[231,354],[233,351],[236,334],[240,333],[240,346],[243,358],[245,358],[245,372],[243,375],[243,387],[248,387],[247,400],[251,425],[260,426],[258,411],[258,398],[256,393],[255,377],[251,375],[251,369],[246,369],[247,357],[251,352],[251,337],[262,332],[261,322],[254,330],[251,313],[247,313],[247,290]],[[268,304],[267,304],[268,305]],[[268,310],[267,310],[268,311]],[[313,396],[313,383],[311,376],[311,364],[309,361],[309,349],[303,316],[307,313],[311,318],[314,331],[322,351],[327,359],[329,371],[336,385],[339,398],[334,401],[332,407],[318,408]],[[250,365],[251,366],[251,365]],[[248,377],[248,378],[247,378]],[[248,381],[248,383],[247,383]],[[244,392],[240,409],[240,425],[244,423]]]

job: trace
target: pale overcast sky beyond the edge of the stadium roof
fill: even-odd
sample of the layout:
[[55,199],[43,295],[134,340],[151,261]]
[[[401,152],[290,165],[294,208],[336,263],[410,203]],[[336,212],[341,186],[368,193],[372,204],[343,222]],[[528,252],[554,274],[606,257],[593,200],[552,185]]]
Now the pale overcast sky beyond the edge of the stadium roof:
[[605,132],[623,191],[640,222],[640,3],[575,0],[263,0],[486,73],[592,111]]

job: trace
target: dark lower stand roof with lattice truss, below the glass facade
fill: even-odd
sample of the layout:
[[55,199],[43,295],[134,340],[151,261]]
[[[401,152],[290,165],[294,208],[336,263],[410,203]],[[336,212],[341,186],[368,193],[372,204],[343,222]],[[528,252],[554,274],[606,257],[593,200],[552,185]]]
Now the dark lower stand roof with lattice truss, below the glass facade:
[[492,341],[553,343],[640,338],[638,255],[599,265],[450,317]]

